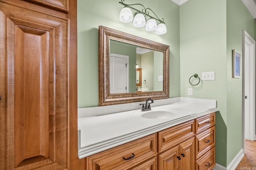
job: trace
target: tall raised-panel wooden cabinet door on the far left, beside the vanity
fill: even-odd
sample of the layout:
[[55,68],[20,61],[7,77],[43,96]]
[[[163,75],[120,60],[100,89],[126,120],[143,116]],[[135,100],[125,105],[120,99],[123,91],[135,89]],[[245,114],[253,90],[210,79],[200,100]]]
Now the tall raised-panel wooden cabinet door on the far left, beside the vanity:
[[0,0],[0,169],[69,169],[69,20],[31,1]]

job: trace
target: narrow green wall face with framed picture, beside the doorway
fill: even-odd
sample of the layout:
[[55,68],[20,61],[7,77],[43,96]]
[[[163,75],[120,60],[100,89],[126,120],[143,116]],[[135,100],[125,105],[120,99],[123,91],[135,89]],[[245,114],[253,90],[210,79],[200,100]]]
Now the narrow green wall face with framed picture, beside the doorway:
[[236,49],[242,55],[242,30],[246,30],[251,37],[254,37],[254,18],[241,0],[226,2],[228,165],[242,149],[242,78],[232,78],[232,49]]

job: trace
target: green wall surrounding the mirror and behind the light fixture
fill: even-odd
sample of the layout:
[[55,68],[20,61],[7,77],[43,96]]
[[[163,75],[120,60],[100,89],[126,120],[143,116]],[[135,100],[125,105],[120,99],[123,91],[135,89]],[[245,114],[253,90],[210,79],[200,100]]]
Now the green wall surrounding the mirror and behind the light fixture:
[[[98,106],[98,26],[150,39],[170,46],[170,98],[180,96],[180,7],[171,0],[137,0],[164,18],[167,33],[137,28],[119,20],[123,6],[117,0],[78,0],[78,108]],[[132,1],[127,1],[132,4]],[[150,13],[151,14],[151,13]],[[153,14],[152,14],[153,15]]]

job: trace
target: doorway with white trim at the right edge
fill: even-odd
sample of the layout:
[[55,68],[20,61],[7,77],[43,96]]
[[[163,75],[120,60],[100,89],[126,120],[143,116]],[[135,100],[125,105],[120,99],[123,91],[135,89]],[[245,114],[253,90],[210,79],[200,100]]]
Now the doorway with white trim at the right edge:
[[255,140],[255,50],[254,39],[246,32],[242,32],[242,149],[244,141]]

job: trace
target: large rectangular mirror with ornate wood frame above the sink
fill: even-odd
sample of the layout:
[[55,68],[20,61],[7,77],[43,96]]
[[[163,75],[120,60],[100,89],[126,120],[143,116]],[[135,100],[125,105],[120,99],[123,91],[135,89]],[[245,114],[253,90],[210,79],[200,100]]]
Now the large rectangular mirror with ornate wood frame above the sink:
[[[168,45],[99,26],[99,106],[169,98],[169,50]],[[139,56],[138,51],[147,52]],[[140,57],[141,88],[146,90],[136,93]]]

